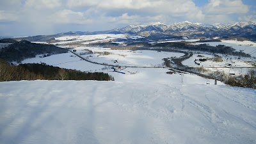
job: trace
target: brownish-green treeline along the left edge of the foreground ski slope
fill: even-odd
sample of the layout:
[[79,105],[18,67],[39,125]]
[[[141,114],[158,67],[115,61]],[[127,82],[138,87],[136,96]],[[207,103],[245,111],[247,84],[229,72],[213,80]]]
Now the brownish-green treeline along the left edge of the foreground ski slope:
[[69,70],[50,65],[29,63],[21,65],[10,65],[0,60],[0,81],[21,81],[21,80],[96,80],[111,81],[113,77],[103,72],[81,72]]

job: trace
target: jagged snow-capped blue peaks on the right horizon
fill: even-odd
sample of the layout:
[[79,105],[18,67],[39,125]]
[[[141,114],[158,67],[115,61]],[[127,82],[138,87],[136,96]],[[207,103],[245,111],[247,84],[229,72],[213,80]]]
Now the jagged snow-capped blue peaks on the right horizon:
[[188,21],[176,24],[154,24],[126,26],[113,29],[108,33],[123,33],[130,35],[175,35],[175,36],[250,36],[256,35],[256,22],[235,22],[232,24],[202,24]]

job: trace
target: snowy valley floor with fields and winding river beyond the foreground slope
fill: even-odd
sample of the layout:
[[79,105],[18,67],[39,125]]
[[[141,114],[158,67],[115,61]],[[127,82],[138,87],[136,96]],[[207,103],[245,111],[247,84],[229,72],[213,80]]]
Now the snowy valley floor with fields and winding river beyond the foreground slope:
[[[106,72],[110,75],[115,75],[113,67],[116,70],[118,68],[131,69],[129,70],[130,74],[137,72],[137,70],[132,70],[136,67],[179,68],[179,70],[182,70],[180,68],[193,68],[192,73],[204,74],[206,77],[214,79],[214,74],[225,74],[226,76],[232,75],[235,77],[243,76],[248,70],[254,69],[256,61],[256,45],[248,41],[223,40],[223,42],[200,42],[199,39],[184,40],[186,45],[204,44],[206,46],[212,45],[213,48],[216,45],[225,45],[234,48],[234,52],[242,52],[241,54],[243,55],[250,54],[250,57],[195,51],[195,48],[193,48],[195,50],[191,51],[189,51],[189,48],[179,50],[179,48],[172,45],[182,44],[184,43],[183,40],[166,40],[150,43],[142,36],[104,34],[63,36],[56,39],[60,40],[60,42],[54,43],[55,45],[68,48],[71,52],[45,58],[31,58],[22,61],[22,63],[47,63],[48,65],[72,68],[85,72]],[[132,40],[132,43],[130,40]],[[123,42],[120,43],[120,41]],[[116,42],[118,45],[112,45],[116,44]],[[158,46],[158,44],[161,45]],[[164,48],[165,45],[171,46],[170,48],[168,46]],[[182,58],[186,55],[186,52],[191,54]],[[204,61],[199,61],[203,59]],[[88,63],[88,61],[91,63]],[[169,63],[167,67],[166,62]],[[125,74],[129,73],[125,72]]]

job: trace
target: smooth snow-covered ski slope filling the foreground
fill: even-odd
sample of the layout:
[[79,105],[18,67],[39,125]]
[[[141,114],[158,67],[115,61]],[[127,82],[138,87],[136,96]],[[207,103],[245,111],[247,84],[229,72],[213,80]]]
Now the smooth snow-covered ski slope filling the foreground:
[[0,83],[0,143],[256,143],[256,91],[116,81]]

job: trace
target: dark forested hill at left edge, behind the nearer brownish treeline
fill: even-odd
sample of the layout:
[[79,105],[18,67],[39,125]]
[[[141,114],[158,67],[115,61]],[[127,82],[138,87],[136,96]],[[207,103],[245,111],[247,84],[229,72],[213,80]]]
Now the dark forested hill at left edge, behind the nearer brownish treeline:
[[68,49],[56,47],[55,45],[35,44],[22,40],[15,42],[8,47],[1,49],[0,59],[5,61],[20,62],[26,58],[34,58],[37,54],[61,54],[68,52]]

